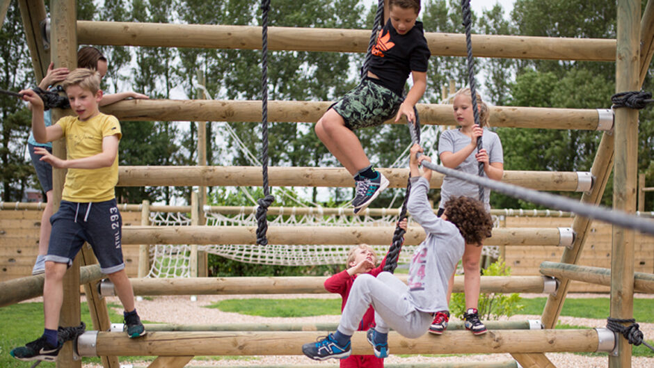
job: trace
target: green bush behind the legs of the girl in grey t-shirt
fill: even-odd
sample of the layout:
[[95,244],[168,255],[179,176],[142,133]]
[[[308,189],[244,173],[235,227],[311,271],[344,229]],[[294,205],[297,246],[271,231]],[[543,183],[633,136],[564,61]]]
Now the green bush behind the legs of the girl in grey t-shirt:
[[[511,275],[511,267],[504,263],[502,258],[497,259],[486,269],[481,270],[482,275],[486,276],[508,276]],[[479,294],[479,319],[496,320],[500,316],[511,317],[513,314],[523,310],[520,305],[520,294],[498,294],[490,293]],[[452,301],[449,303],[449,311],[452,315],[463,319],[465,312],[465,295],[463,293],[452,294]]]

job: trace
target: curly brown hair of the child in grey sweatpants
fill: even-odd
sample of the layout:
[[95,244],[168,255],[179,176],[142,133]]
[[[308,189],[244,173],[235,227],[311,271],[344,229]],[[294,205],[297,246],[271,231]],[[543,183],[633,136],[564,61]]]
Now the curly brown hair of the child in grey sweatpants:
[[481,245],[490,237],[493,220],[484,204],[469,197],[452,197],[445,203],[447,221],[454,223],[465,239],[465,243]]

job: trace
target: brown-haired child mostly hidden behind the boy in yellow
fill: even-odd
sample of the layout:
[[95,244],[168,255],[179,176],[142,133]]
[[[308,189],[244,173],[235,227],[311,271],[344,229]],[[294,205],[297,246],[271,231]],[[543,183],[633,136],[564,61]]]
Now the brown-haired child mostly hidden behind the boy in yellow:
[[[97,70],[100,74],[100,78],[104,77],[107,70],[107,61],[104,55],[96,49],[95,47],[82,47],[77,51],[77,67],[85,67],[90,70]],[[38,84],[39,88],[42,90],[47,90],[51,86],[54,86],[55,83],[61,82],[68,75],[67,67],[58,67],[54,68],[54,63],[50,63],[48,67],[47,74]],[[102,95],[102,99],[99,102],[99,106],[106,106],[113,104],[113,102],[120,101],[122,99],[134,98],[134,99],[147,99],[146,95],[136,92],[121,92],[114,93],[113,95]],[[43,120],[45,126],[49,127],[51,122],[51,111],[45,111],[43,115]],[[39,243],[38,243],[38,255],[36,256],[36,262],[32,268],[32,275],[39,275],[45,272],[45,255],[48,251],[48,241],[50,239],[50,231],[52,226],[50,225],[50,216],[52,216],[53,201],[52,201],[52,166],[45,161],[40,161],[41,155],[34,153],[35,147],[44,147],[45,150],[52,153],[52,143],[38,143],[30,131],[29,138],[27,138],[27,150],[29,156],[32,160],[32,165],[36,171],[36,176],[38,177],[39,183],[41,184],[41,189],[45,192],[45,208],[43,209],[43,214],[41,216],[41,226],[39,234]]]

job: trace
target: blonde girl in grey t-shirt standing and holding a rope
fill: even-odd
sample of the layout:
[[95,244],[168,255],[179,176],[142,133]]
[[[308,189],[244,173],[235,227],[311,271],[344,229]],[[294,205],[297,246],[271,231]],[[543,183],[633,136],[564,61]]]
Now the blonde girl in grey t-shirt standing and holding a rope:
[[[479,125],[474,124],[472,112],[472,93],[470,88],[458,90],[454,95],[452,104],[454,118],[459,129],[443,131],[438,141],[438,154],[443,166],[461,170],[464,173],[477,175],[479,163],[484,163],[484,176],[501,180],[504,173],[504,155],[500,137],[495,132],[488,130],[490,110],[477,95],[477,109],[479,109]],[[481,126],[480,126],[481,125]],[[482,149],[477,152],[477,138],[481,137]],[[465,182],[455,177],[445,176],[440,189],[440,207],[438,216],[445,210],[445,203],[454,195],[465,195],[466,197],[479,199],[479,186]],[[490,189],[484,189],[484,208],[490,213]],[[486,326],[479,321],[477,306],[479,303],[479,285],[481,284],[481,243],[466,243],[463,252],[463,273],[465,291],[465,328],[472,331],[474,335],[486,333]],[[452,295],[454,284],[454,273],[449,280],[447,289],[447,303]],[[429,328],[430,333],[440,335],[447,328],[449,314],[436,314],[433,323]]]

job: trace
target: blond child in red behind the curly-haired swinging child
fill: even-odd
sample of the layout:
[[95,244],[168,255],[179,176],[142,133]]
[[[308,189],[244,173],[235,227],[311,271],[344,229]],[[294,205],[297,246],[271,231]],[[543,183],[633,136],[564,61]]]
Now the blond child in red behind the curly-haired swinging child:
[[[406,230],[406,218],[397,223],[399,227]],[[367,245],[360,244],[353,247],[347,255],[347,269],[336,273],[325,281],[325,289],[330,293],[338,293],[342,298],[341,311],[347,303],[347,297],[352,289],[352,284],[358,275],[367,273],[369,275],[377,276],[383,271],[386,264],[386,257],[381,261],[381,264],[375,267],[377,263],[377,255],[375,250]],[[369,307],[363,315],[363,319],[359,323],[358,330],[365,331],[368,328],[374,327],[374,310]],[[383,358],[377,358],[374,355],[352,355],[349,358],[340,361],[341,368],[383,368]]]

